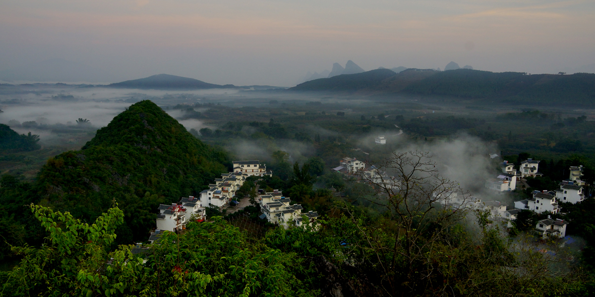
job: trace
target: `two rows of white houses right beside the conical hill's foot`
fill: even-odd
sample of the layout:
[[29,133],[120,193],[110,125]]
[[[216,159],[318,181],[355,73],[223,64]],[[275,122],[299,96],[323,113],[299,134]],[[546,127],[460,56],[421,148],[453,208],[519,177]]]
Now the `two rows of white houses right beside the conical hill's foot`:
[[[209,188],[203,190],[200,197],[182,197],[178,203],[159,205],[156,229],[151,233],[149,241],[155,241],[164,230],[176,232],[186,229],[186,223],[190,220],[202,222],[206,218],[207,207],[223,210],[230,203],[237,203],[236,199],[244,197],[236,197],[236,192],[249,176],[271,175],[273,173],[267,171],[267,166],[258,160],[234,161],[233,172],[224,173],[221,178],[215,179],[215,184],[209,184]],[[315,211],[302,213],[303,207],[300,204],[292,205],[291,199],[284,197],[278,190],[258,194],[258,203],[262,212],[261,219],[285,228],[292,224],[301,226],[304,217],[309,220],[318,217]]]

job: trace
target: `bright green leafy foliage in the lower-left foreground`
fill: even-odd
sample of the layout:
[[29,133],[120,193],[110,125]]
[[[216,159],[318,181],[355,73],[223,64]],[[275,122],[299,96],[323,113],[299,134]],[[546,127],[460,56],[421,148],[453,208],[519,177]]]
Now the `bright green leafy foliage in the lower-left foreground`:
[[286,268],[299,264],[292,254],[246,241],[221,217],[189,222],[183,235],[164,232],[140,254],[126,245],[108,254],[123,222],[117,207],[92,225],[31,209],[49,232],[48,244],[13,248],[23,260],[5,278],[6,296],[309,296]]

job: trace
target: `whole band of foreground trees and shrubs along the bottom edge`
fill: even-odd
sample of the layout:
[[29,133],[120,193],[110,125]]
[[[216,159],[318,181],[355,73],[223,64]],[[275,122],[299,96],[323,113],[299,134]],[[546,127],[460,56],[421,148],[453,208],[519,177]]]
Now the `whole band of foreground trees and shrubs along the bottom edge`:
[[[407,154],[397,157],[407,162]],[[422,167],[406,163],[405,168],[427,170],[431,161],[421,157]],[[312,166],[293,166],[287,190],[292,200],[312,184]],[[415,180],[403,179],[408,173]],[[399,180],[408,185],[406,192],[354,184],[367,189],[353,195],[368,191],[371,195],[358,197],[378,207],[354,206],[356,197],[332,200],[328,216],[302,221],[303,228],[272,228],[258,235],[218,217],[190,220],[185,232],[164,232],[148,248],[113,247],[126,217],[119,206],[89,223],[50,208],[25,207],[48,240],[38,247],[12,248],[21,260],[13,270],[0,272],[2,293],[537,297],[593,292],[593,274],[583,270],[590,260],[568,260],[580,255],[567,254],[557,242],[511,240],[488,213],[435,207],[439,201],[431,193],[453,186],[436,184],[435,178],[420,179],[405,170]],[[434,191],[427,194],[422,187]]]

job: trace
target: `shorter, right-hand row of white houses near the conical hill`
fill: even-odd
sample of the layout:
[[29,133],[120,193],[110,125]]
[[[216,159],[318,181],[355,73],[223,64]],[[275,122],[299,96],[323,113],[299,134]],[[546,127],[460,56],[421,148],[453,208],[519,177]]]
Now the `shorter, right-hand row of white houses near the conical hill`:
[[[291,199],[289,197],[283,197],[281,192],[276,190],[265,193],[265,195],[260,195],[259,203],[262,216],[268,222],[278,224],[284,228],[289,228],[292,224],[302,226],[318,217],[316,211],[302,213],[303,207],[300,204],[291,205]],[[308,219],[308,222],[303,222],[304,217]]]

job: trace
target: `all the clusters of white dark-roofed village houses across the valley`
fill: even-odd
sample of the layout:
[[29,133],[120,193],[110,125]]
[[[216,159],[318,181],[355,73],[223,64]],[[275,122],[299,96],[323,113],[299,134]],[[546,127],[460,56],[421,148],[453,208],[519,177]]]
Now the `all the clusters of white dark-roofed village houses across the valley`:
[[[500,164],[502,172],[495,178],[486,181],[485,187],[498,194],[514,191],[518,184],[525,184],[525,178],[540,176],[538,172],[539,161],[527,159],[521,163],[518,169],[515,165],[504,161]],[[339,166],[334,171],[348,176],[360,176],[365,181],[380,183],[384,182],[391,187],[398,188],[398,182],[382,172],[374,165],[368,165],[356,158],[345,157],[339,161]],[[242,187],[249,176],[271,176],[273,173],[267,171],[267,167],[258,160],[234,161],[233,172],[224,173],[221,178],[215,179],[215,184],[210,184],[208,189],[200,193],[200,197],[183,197],[178,203],[171,205],[161,204],[158,207],[159,214],[156,219],[156,230],[151,233],[149,241],[153,242],[159,238],[162,230],[180,231],[186,228],[189,220],[202,222],[206,218],[206,207],[216,207],[219,210],[237,203],[236,191]],[[479,197],[464,197],[456,191],[440,194],[437,201],[445,207],[470,207],[489,210],[493,219],[505,223],[508,228],[512,227],[512,220],[521,210],[531,210],[535,213],[549,212],[560,213],[560,202],[581,203],[585,199],[583,193],[584,182],[583,166],[571,167],[569,178],[559,184],[558,189],[552,191],[534,191],[533,197],[515,201],[513,205],[500,201],[482,201]],[[390,182],[393,182],[391,185]],[[258,204],[261,210],[260,219],[266,219],[270,223],[287,228],[290,225],[302,226],[318,217],[316,211],[303,212],[300,204],[292,204],[289,197],[284,197],[279,190],[273,192],[262,192],[258,194]],[[303,220],[306,219],[306,222]],[[569,222],[560,219],[540,220],[537,222],[534,232],[546,238],[563,238],[566,236],[566,225]]]

